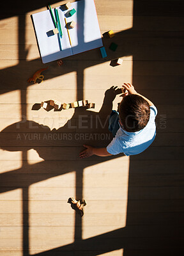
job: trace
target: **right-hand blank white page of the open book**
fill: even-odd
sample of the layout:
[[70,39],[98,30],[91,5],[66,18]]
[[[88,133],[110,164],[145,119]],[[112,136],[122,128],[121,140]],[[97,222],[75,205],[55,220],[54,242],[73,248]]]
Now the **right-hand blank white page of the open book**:
[[[102,35],[100,33],[94,0],[74,2],[72,3],[72,8],[75,8],[76,13],[72,17],[67,17],[66,20],[67,23],[72,20],[77,22],[74,28],[69,29],[73,54],[102,47]],[[65,14],[67,12],[65,11]]]

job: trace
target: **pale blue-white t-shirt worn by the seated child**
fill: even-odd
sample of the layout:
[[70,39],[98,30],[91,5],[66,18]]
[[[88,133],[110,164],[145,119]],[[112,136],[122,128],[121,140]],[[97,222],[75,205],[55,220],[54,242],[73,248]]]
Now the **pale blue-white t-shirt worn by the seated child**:
[[120,127],[115,138],[107,146],[107,152],[112,155],[124,153],[126,156],[143,152],[155,140],[155,116],[157,116],[157,108],[150,106],[150,119],[144,129],[138,132],[127,132]]

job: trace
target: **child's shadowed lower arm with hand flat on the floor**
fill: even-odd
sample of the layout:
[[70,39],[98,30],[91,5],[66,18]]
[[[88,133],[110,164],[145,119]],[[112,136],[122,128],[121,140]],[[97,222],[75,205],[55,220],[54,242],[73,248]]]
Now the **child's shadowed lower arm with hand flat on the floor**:
[[111,156],[111,154],[109,152],[107,152],[106,148],[94,148],[88,145],[84,145],[84,147],[86,147],[86,149],[84,149],[80,154],[79,157],[80,158],[86,158],[89,156]]

